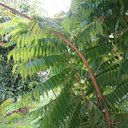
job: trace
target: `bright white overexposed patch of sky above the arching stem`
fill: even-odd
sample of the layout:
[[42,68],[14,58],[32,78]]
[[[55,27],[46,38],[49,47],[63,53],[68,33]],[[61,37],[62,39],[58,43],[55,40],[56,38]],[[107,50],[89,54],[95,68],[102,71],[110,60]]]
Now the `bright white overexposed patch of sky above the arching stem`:
[[41,0],[40,2],[48,17],[53,17],[61,11],[67,12],[71,4],[71,0]]

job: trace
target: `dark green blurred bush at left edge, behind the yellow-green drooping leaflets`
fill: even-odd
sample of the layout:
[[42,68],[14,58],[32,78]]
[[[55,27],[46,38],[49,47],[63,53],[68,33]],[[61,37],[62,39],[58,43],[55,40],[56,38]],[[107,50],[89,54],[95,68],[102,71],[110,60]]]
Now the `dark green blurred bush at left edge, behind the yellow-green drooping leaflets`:
[[30,91],[28,88],[28,79],[26,82],[22,82],[22,79],[19,75],[12,75],[12,66],[13,61],[7,62],[7,54],[10,50],[2,49],[0,57],[0,102],[8,98],[14,98],[15,101],[18,99],[18,96],[23,96],[27,91]]

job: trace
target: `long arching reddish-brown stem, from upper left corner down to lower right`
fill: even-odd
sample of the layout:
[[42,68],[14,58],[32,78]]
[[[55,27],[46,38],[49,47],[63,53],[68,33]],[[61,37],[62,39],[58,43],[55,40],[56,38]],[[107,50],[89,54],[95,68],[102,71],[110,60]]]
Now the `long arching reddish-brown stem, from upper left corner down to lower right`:
[[[4,4],[2,4],[2,3],[0,3],[0,6],[3,6],[4,8],[7,8],[7,9],[9,9],[9,10],[15,12],[16,14],[19,14],[20,16],[25,17],[25,18],[27,18],[27,19],[29,19],[29,20],[32,19],[31,17],[26,16],[25,14],[22,14],[22,13],[18,12],[17,10],[15,10],[15,9],[13,9],[13,8],[10,8],[9,6],[6,6],[6,5],[4,5]],[[57,37],[59,37],[60,39],[62,39],[66,44],[68,44],[73,50],[75,50],[75,52],[76,52],[76,53],[79,55],[79,57],[82,59],[84,65],[87,67],[88,72],[89,72],[90,77],[91,77],[91,80],[92,80],[92,83],[93,83],[93,86],[94,86],[94,88],[95,88],[95,90],[96,90],[96,93],[98,94],[98,96],[99,96],[101,102],[102,102],[103,105],[104,105],[105,119],[106,119],[107,127],[108,127],[108,128],[111,128],[110,114],[109,114],[109,112],[108,112],[107,107],[105,106],[104,96],[103,96],[103,94],[101,93],[101,91],[100,91],[100,89],[99,89],[99,86],[98,86],[98,84],[97,84],[97,82],[96,82],[95,76],[94,76],[94,74],[93,74],[93,72],[92,72],[92,69],[91,69],[89,63],[87,62],[86,58],[84,57],[84,55],[82,54],[82,52],[81,52],[70,40],[68,40],[65,36],[63,36],[63,35],[62,35],[61,33],[59,33],[59,32],[53,31],[53,33],[54,33]]]

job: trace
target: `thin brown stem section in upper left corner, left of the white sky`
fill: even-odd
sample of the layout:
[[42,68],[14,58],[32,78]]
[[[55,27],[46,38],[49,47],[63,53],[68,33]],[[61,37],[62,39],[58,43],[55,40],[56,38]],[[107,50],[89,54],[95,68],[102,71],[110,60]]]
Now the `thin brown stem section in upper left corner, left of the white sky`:
[[23,13],[17,11],[17,10],[15,10],[14,8],[11,8],[11,7],[9,7],[9,6],[5,5],[5,4],[0,3],[0,6],[6,8],[6,9],[9,9],[9,10],[11,10],[12,12],[14,12],[14,13],[16,13],[16,14],[18,14],[18,15],[24,17],[24,18],[27,18],[27,19],[29,19],[29,20],[32,19],[31,17],[29,17],[29,16],[27,16],[27,15],[25,15],[25,14],[23,14]]

